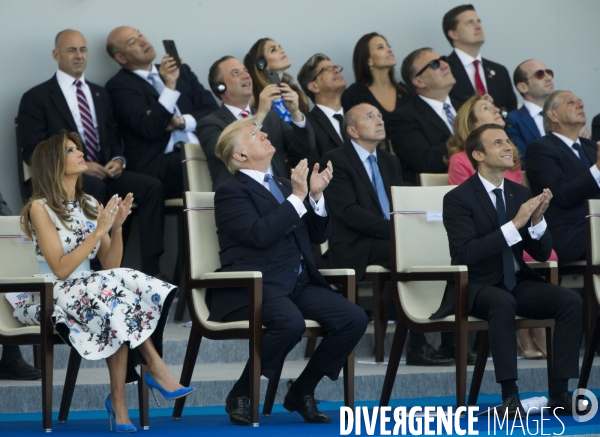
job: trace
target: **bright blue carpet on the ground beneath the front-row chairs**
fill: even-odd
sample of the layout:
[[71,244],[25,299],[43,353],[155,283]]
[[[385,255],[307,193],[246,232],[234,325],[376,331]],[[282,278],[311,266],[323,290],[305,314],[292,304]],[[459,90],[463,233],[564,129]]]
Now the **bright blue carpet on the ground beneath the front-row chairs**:
[[[599,390],[594,393],[600,395]],[[543,396],[544,393],[523,393],[523,398],[533,396]],[[497,405],[498,395],[479,396],[478,406],[480,411],[488,407]],[[395,399],[390,402],[392,408],[399,406],[451,406],[454,403],[454,397],[439,398],[417,398],[417,399]],[[369,409],[377,406],[378,402],[357,402],[357,406],[366,406]],[[325,402],[319,404],[319,409],[325,412],[332,420],[328,425],[305,424],[297,413],[289,413],[281,405],[275,405],[273,414],[270,417],[260,417],[260,426],[258,428],[239,427],[231,425],[229,417],[222,406],[217,407],[190,407],[184,410],[184,415],[180,421],[171,419],[171,409],[150,410],[150,430],[144,431],[143,436],[165,436],[173,434],[175,437],[187,436],[219,436],[219,437],[239,437],[239,436],[286,436],[286,437],[320,437],[320,436],[338,436],[340,435],[340,402]],[[372,412],[372,410],[370,410]],[[130,412],[133,423],[137,426],[137,410]],[[392,416],[392,415],[388,415]],[[56,415],[53,418],[54,436],[82,436],[82,435],[108,435],[108,420],[105,411],[74,411],[69,415],[69,421],[66,424],[58,423]],[[505,427],[496,430],[496,435],[541,435],[540,429],[536,429],[536,422],[539,427],[540,416],[531,416],[529,419],[529,431],[525,419],[523,419],[524,428],[515,427],[508,429]],[[562,421],[562,423],[561,423]],[[554,416],[547,418],[545,416],[543,434],[545,435],[577,435],[577,434],[600,434],[600,414],[585,423],[577,423],[572,417],[561,417],[561,421]],[[466,429],[466,419],[461,419],[461,427]],[[518,422],[517,422],[518,423]],[[394,419],[387,424],[387,430],[392,431]],[[564,426],[564,429],[563,429]],[[512,422],[511,422],[512,427]],[[435,424],[432,426],[435,429]],[[474,429],[479,431],[479,435],[488,435],[487,416],[480,416]],[[494,434],[493,424],[491,425],[491,435]],[[512,432],[511,432],[512,431]],[[536,433],[537,431],[537,433]],[[408,428],[407,428],[408,433]],[[21,414],[0,414],[0,436],[40,436],[42,435],[41,414],[40,413],[21,413]],[[353,429],[351,436],[356,435]],[[362,436],[368,435],[365,429],[364,421],[361,427]],[[381,435],[380,426],[377,423],[375,433],[372,435]],[[457,435],[457,434],[452,434]]]

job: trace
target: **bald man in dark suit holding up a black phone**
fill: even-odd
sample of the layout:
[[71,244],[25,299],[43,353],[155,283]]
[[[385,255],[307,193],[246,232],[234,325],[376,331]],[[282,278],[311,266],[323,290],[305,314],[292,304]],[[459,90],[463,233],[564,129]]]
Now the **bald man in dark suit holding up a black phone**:
[[160,179],[167,199],[181,197],[181,147],[198,143],[196,123],[218,109],[190,67],[165,55],[137,29],[121,26],[106,40],[121,70],[106,83],[125,143],[129,168]]

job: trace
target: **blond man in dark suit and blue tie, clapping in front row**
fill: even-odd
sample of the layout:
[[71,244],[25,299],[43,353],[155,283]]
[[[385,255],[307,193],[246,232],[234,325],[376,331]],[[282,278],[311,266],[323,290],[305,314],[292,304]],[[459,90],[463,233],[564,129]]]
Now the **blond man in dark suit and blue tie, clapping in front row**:
[[[304,319],[317,321],[325,337],[285,396],[284,408],[305,421],[329,423],[319,412],[314,390],[328,376],[338,378],[342,365],[367,327],[365,312],[331,290],[311,254],[331,230],[323,190],[333,177],[328,164],[312,172],[302,160],[288,179],[268,170],[275,148],[253,117],[225,128],[216,154],[234,173],[215,193],[215,220],[221,247],[221,271],[260,271],[263,277],[262,374],[271,378],[300,341]],[[310,173],[310,175],[309,175]],[[307,180],[310,176],[310,184]],[[209,291],[210,320],[247,320],[247,289]],[[234,424],[250,425],[248,365],[227,396]]]

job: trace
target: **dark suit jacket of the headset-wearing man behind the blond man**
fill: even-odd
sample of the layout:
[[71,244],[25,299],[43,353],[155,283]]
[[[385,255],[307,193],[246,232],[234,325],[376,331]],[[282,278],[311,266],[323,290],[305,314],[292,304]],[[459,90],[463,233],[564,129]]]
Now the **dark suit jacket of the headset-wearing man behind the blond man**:
[[[256,110],[252,108],[252,114],[255,113]],[[215,155],[215,148],[221,132],[236,120],[231,111],[221,105],[217,111],[200,120],[196,129],[208,160],[214,191],[227,179],[233,178],[223,161]],[[289,178],[290,166],[295,167],[315,148],[315,134],[309,122],[305,128],[299,128],[294,122],[286,124],[277,112],[271,110],[263,120],[261,130],[269,135],[269,141],[275,147],[275,155],[271,159],[274,176]]]

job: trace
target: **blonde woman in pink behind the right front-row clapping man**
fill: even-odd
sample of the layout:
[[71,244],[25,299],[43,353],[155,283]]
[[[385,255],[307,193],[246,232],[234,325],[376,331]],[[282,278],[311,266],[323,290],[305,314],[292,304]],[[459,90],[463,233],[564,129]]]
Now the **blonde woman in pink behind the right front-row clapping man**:
[[[465,152],[465,143],[467,137],[475,128],[487,123],[505,126],[500,110],[492,103],[492,98],[487,94],[471,97],[456,113],[454,135],[446,143],[449,159],[445,161],[448,164],[448,182],[450,185],[460,185],[475,174],[476,170],[471,165]],[[512,146],[514,166],[504,172],[504,177],[521,184],[523,175],[521,173],[519,152],[514,144]],[[523,252],[523,259],[526,262],[535,261],[527,252]],[[552,250],[550,261],[558,261],[554,250]],[[544,328],[519,329],[517,331],[517,344],[525,359],[542,358],[546,356],[546,331]]]

